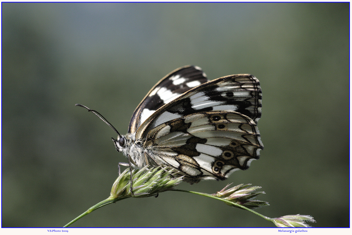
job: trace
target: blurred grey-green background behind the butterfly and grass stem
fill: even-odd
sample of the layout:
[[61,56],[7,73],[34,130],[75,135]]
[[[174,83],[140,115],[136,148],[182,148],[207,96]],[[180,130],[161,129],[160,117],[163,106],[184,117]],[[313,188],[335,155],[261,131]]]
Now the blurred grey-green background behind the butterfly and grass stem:
[[[149,89],[194,64],[250,73],[263,90],[264,150],[226,181],[262,186],[269,217],[349,227],[349,3],[2,3],[2,227],[62,227],[109,196],[111,128],[125,134]],[[273,227],[244,210],[165,192],[73,227]]]

